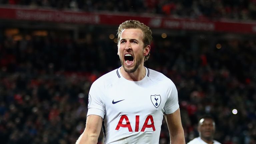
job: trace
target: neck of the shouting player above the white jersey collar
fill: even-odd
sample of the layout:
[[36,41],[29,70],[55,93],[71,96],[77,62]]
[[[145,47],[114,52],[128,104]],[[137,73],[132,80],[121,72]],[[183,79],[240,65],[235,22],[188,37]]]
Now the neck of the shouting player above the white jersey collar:
[[130,81],[140,81],[146,75],[146,69],[143,65],[140,65],[137,70],[133,73],[127,73],[123,67],[120,69],[122,76]]

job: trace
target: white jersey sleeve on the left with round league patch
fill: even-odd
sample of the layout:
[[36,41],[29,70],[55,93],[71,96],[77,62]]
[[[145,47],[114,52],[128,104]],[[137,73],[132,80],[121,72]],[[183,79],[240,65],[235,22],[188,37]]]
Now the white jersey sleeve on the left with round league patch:
[[87,116],[88,115],[98,115],[101,116],[102,119],[105,115],[104,93],[95,83],[92,84],[89,91]]

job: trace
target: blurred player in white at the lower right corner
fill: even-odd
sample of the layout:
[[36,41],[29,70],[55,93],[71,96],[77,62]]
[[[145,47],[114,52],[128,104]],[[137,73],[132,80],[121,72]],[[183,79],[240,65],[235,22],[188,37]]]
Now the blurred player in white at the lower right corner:
[[198,122],[199,137],[194,138],[188,144],[221,144],[213,139],[215,122],[211,116],[204,116]]

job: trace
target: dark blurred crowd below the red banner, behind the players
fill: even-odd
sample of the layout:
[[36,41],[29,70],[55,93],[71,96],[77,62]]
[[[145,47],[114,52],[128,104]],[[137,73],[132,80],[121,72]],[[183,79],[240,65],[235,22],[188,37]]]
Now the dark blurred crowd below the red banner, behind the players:
[[[216,140],[255,144],[255,39],[222,40],[218,48],[198,40],[192,48],[192,35],[153,37],[146,66],[176,84],[186,142],[210,114]],[[0,37],[1,143],[74,144],[85,128],[91,84],[119,66],[116,43],[104,33],[86,33],[82,41],[54,32]],[[168,141],[163,120],[160,143]]]

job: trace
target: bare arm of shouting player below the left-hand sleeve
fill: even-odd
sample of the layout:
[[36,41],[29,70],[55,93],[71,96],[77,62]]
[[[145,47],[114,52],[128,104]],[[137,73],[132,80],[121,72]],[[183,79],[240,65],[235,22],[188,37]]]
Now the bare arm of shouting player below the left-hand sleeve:
[[76,144],[97,144],[102,121],[103,119],[101,116],[87,116],[85,130],[76,141]]

